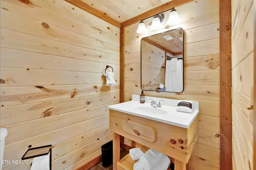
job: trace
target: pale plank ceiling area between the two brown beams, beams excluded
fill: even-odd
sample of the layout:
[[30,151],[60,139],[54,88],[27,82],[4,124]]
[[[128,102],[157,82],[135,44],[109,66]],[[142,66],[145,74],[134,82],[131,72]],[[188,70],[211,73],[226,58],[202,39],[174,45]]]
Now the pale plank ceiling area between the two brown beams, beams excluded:
[[80,0],[118,22],[124,22],[172,0]]

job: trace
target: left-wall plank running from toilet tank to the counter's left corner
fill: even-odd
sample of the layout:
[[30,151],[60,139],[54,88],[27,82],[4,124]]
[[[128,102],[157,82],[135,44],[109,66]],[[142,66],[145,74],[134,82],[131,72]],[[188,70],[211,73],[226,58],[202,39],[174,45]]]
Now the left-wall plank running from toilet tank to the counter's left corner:
[[[56,130],[58,128],[80,123],[81,121],[86,121],[88,119],[106,115],[108,113],[108,109],[106,109],[106,107],[107,105],[102,105],[99,107],[92,107],[90,109],[82,109],[78,111],[73,111],[71,113],[50,116],[44,119],[36,119],[34,121],[4,126],[8,129],[6,144],[19,140],[24,140],[38,134],[43,134],[52,130]],[[73,115],[74,118],[72,117],[68,121],[62,121],[61,123],[58,123],[69,115]],[[28,131],[28,127],[32,128],[33,130]]]

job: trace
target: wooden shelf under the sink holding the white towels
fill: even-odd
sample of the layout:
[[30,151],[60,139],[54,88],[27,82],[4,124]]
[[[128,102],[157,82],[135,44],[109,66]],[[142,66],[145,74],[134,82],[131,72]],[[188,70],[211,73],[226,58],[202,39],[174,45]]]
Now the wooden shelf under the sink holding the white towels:
[[[130,156],[130,154],[127,154],[126,156],[124,156],[124,158],[122,158],[121,160],[119,160],[117,162],[117,170],[133,170],[133,165],[138,162],[138,160],[132,160],[132,157]],[[171,170],[170,166],[168,167],[167,170]]]

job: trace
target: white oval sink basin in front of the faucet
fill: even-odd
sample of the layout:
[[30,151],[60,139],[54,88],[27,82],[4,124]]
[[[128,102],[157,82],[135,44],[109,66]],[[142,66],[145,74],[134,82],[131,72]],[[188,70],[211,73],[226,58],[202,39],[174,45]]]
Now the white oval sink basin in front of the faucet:
[[133,108],[134,112],[143,114],[143,115],[166,115],[167,111],[160,107],[152,107],[152,106],[138,106]]

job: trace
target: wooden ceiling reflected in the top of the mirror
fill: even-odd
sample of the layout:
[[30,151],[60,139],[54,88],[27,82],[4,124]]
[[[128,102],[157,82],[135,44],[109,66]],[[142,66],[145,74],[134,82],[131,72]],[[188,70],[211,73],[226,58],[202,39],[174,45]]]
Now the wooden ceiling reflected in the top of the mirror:
[[[166,36],[167,38],[171,38],[171,40],[166,40],[166,38],[164,38]],[[166,49],[165,51],[172,53],[173,55],[179,55],[182,54],[183,51],[183,39],[181,38],[182,29],[177,29],[143,38],[142,40],[151,43],[152,45],[155,45],[160,49]]]

